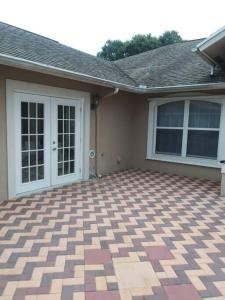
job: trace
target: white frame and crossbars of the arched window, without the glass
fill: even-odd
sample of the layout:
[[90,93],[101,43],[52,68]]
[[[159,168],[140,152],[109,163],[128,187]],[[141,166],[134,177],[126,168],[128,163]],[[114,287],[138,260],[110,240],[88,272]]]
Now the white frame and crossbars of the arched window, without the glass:
[[[225,159],[225,95],[219,96],[195,96],[195,97],[173,97],[173,98],[154,98],[149,100],[149,118],[148,118],[148,142],[147,142],[147,159],[150,160],[159,160],[166,162],[182,163],[189,165],[221,168],[220,160]],[[214,102],[221,104],[221,116],[220,116],[220,127],[219,127],[219,140],[218,140],[218,154],[217,159],[210,158],[198,158],[198,157],[187,157],[187,134],[188,130],[204,130],[204,128],[190,128],[188,127],[188,116],[189,116],[189,103],[190,101],[206,101]],[[158,106],[170,102],[185,101],[184,108],[184,123],[183,127],[166,127],[166,129],[183,129],[183,138],[182,138],[182,151],[181,155],[172,155],[172,154],[158,154],[155,153],[156,147],[156,129],[162,128],[157,126],[157,108]],[[215,128],[207,128],[205,130],[215,130]]]

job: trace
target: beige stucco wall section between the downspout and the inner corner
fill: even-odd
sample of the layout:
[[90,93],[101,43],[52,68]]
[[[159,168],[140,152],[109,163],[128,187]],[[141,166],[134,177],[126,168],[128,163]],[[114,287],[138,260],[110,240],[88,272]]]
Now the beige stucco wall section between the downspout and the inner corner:
[[120,92],[100,101],[97,111],[99,174],[132,166],[133,96]]

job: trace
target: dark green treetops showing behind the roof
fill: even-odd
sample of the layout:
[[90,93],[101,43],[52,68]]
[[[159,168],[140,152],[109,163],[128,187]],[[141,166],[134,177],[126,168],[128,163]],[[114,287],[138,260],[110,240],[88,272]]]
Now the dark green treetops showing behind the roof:
[[97,56],[114,61],[181,41],[181,36],[175,30],[166,31],[159,38],[151,34],[137,34],[131,40],[125,42],[120,40],[106,41],[101,51],[97,53]]

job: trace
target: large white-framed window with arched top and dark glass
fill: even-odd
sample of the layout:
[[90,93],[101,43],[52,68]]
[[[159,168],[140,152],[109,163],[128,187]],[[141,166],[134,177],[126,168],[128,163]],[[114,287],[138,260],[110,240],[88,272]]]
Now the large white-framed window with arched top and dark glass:
[[222,107],[202,99],[150,102],[147,158],[218,166]]

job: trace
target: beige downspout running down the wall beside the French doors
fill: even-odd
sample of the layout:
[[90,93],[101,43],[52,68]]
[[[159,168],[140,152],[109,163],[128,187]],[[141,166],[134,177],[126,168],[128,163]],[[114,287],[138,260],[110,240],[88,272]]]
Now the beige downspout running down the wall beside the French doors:
[[110,92],[98,99],[98,105],[95,108],[95,175],[97,177],[101,177],[101,174],[99,174],[99,168],[98,168],[98,151],[99,151],[99,104],[100,101],[102,101],[105,98],[112,97],[114,95],[117,95],[119,93],[119,88],[115,88],[113,92]]

